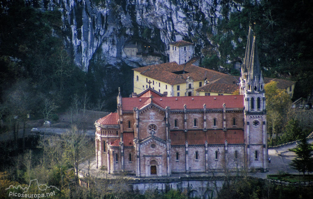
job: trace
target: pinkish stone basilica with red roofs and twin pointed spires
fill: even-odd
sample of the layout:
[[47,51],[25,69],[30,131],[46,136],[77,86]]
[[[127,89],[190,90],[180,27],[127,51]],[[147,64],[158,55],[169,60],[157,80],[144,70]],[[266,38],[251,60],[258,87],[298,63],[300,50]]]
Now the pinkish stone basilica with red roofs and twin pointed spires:
[[251,27],[240,95],[167,97],[146,81],[141,93],[119,92],[117,112],[95,122],[97,168],[136,177],[268,170],[264,79]]

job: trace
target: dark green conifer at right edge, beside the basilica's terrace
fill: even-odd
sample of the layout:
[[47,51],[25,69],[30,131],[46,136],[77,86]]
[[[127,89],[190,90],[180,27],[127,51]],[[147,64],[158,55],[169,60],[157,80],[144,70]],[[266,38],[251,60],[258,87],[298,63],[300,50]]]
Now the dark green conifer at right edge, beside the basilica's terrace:
[[313,148],[312,145],[309,144],[305,137],[302,138],[301,143],[295,149],[295,153],[297,157],[292,160],[290,166],[299,172],[303,172],[303,176],[305,172],[313,171]]

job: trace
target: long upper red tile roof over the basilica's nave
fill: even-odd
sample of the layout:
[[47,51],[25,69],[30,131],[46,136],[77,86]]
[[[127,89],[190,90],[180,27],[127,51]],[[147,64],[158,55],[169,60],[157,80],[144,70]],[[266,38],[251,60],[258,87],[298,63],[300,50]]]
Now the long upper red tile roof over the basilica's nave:
[[[162,100],[161,100],[162,99]],[[206,104],[207,109],[223,108],[225,103],[226,108],[243,108],[243,95],[223,95],[223,96],[185,96],[185,97],[124,97],[122,98],[123,111],[132,111],[134,107],[141,109],[150,103],[171,109],[183,109],[186,104],[187,109],[203,109],[203,104]]]

